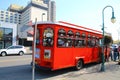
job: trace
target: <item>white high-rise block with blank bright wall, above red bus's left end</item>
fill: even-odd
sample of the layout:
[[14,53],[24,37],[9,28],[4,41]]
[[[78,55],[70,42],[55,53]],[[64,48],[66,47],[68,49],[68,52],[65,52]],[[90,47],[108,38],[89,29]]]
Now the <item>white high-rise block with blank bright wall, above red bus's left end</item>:
[[47,21],[47,11],[47,4],[42,1],[31,0],[22,11],[21,25],[28,25],[29,21],[35,22],[35,18],[38,21]]

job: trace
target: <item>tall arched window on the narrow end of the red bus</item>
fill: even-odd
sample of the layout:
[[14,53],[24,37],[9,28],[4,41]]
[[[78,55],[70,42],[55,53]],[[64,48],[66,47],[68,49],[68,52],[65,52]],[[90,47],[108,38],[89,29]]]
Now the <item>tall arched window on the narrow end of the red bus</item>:
[[43,34],[43,46],[53,46],[53,29],[46,28]]

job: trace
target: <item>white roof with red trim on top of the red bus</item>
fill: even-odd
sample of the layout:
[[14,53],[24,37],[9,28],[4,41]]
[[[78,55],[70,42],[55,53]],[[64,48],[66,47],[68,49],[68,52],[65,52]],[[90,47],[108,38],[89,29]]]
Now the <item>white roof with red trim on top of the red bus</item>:
[[[101,31],[90,29],[87,27],[79,26],[76,24],[68,23],[68,22],[64,22],[64,21],[58,21],[58,22],[42,21],[42,22],[37,22],[37,24],[56,24],[56,25],[61,25],[61,26],[69,27],[69,28],[75,28],[75,29],[93,32],[93,33],[97,33],[97,34],[102,34]],[[33,25],[35,25],[35,24],[33,24]]]

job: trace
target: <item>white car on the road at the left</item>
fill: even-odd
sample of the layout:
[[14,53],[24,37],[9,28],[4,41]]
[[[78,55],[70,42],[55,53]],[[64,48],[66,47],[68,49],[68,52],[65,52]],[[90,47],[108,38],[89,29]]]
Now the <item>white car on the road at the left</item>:
[[26,49],[24,46],[21,46],[21,45],[15,45],[15,46],[10,46],[6,49],[0,49],[1,56],[6,56],[8,54],[23,55],[24,53],[26,53]]

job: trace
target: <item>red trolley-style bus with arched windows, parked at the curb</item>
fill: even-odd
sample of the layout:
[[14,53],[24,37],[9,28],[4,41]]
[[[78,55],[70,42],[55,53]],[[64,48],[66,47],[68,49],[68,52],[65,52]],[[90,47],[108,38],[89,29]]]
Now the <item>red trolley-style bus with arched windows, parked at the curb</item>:
[[79,70],[84,64],[100,62],[101,39],[100,31],[75,24],[37,23],[35,65],[51,70]]

